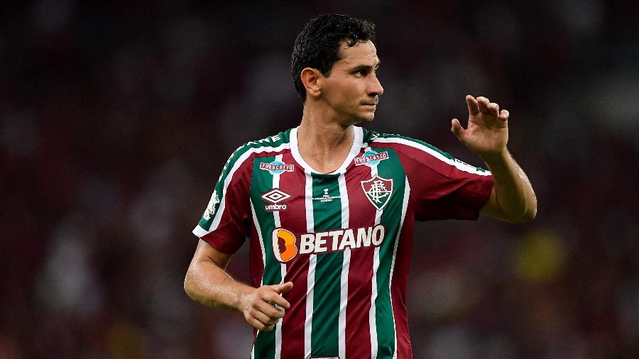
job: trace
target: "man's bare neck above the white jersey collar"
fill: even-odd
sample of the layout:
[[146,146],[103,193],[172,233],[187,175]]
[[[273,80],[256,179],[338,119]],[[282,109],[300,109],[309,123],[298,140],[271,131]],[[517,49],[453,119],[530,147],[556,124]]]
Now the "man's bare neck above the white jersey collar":
[[337,170],[349,155],[354,141],[353,125],[344,126],[304,109],[302,123],[297,130],[300,155],[312,168],[321,173]]

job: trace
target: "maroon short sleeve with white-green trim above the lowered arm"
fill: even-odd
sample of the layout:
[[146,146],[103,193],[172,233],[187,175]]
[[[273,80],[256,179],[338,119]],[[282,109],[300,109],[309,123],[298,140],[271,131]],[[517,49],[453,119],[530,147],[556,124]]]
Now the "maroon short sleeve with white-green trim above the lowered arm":
[[235,253],[251,231],[251,160],[236,151],[226,162],[193,234],[222,253]]

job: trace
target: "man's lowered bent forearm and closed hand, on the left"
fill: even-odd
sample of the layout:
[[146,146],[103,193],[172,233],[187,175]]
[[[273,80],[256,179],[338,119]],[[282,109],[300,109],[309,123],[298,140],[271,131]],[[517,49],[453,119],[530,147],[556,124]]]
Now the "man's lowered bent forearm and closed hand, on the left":
[[[271,331],[290,304],[280,294],[293,288],[292,282],[253,288],[226,273],[231,255],[202,241],[197,244],[184,280],[188,296],[213,308],[231,309],[244,314],[246,322],[261,331]],[[279,308],[273,304],[277,304]]]

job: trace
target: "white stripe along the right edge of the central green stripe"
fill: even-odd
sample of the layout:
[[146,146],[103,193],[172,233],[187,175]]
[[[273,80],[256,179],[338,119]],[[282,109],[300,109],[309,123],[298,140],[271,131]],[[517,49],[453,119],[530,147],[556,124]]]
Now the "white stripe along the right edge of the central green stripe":
[[[344,174],[337,178],[339,182],[339,197],[342,200],[342,228],[349,228],[349,194],[346,190],[346,177]],[[339,321],[338,321],[338,348],[339,358],[346,358],[346,304],[349,299],[349,267],[351,265],[351,248],[344,250],[342,260],[341,288],[339,290]]]

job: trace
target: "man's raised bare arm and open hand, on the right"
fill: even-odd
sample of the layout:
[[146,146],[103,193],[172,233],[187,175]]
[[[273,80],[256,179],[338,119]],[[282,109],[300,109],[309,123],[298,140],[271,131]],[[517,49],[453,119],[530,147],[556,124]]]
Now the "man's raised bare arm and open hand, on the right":
[[451,131],[469,150],[484,159],[493,174],[493,189],[481,209],[496,219],[523,222],[535,218],[537,197],[521,167],[508,152],[508,111],[486,97],[466,96],[468,127],[453,118]]

